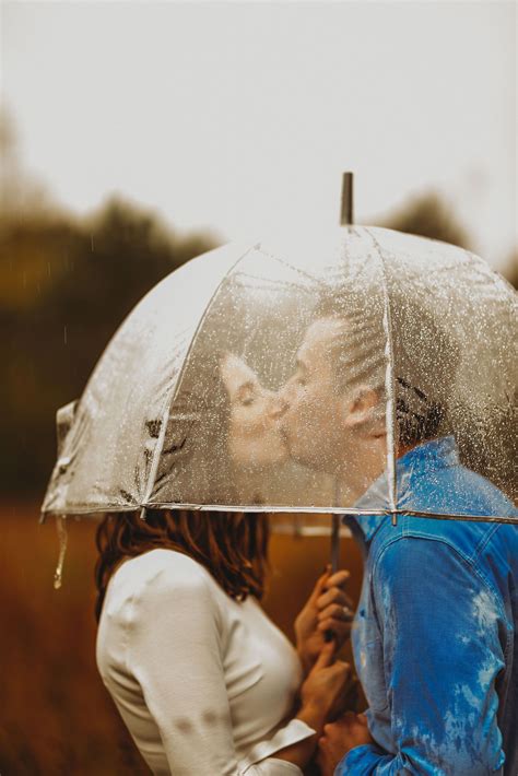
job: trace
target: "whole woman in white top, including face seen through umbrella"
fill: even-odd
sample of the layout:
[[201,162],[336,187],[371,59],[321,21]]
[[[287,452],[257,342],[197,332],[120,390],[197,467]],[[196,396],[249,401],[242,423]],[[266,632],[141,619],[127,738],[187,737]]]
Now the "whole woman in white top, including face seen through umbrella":
[[[287,458],[278,397],[237,355],[200,352],[169,413],[158,501],[255,503]],[[267,544],[257,514],[149,509],[99,527],[97,665],[156,774],[301,774],[337,710],[348,667],[323,636],[349,632],[346,574],[317,583],[295,650],[258,603]]]

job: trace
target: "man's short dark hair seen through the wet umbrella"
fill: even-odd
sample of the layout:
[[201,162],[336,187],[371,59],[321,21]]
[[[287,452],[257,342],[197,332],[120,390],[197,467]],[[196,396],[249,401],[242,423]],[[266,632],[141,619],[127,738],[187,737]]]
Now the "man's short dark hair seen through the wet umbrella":
[[340,390],[367,384],[382,403],[391,358],[398,438],[413,446],[449,431],[448,400],[459,349],[435,320],[432,299],[423,303],[397,291],[384,297],[377,291],[369,295],[331,289],[322,294],[316,317],[344,322],[329,353]]

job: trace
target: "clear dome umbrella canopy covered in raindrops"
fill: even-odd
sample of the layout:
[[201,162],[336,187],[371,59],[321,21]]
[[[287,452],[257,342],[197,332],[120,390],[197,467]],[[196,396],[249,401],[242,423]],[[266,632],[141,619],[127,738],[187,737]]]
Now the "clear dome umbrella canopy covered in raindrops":
[[435,240],[348,226],[210,251],[139,303],[58,416],[43,513],[404,513],[397,458],[448,435],[515,498],[517,328],[513,289]]

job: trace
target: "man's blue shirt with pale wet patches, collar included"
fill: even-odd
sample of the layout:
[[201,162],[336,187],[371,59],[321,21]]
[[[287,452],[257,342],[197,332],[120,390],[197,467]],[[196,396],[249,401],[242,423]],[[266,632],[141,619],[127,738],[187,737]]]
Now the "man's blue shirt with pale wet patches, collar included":
[[[412,449],[397,474],[405,509],[466,514],[471,503],[518,517],[459,463],[452,437]],[[377,745],[351,750],[335,776],[517,776],[518,524],[344,519],[365,550],[353,649]]]

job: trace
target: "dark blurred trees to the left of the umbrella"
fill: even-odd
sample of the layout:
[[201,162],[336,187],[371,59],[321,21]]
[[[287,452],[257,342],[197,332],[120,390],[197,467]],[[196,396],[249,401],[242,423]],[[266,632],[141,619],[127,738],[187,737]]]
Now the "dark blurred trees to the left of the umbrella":
[[80,221],[11,211],[0,225],[0,490],[40,493],[55,460],[54,418],[79,397],[115,329],[162,278],[214,247],[178,237],[111,199]]

